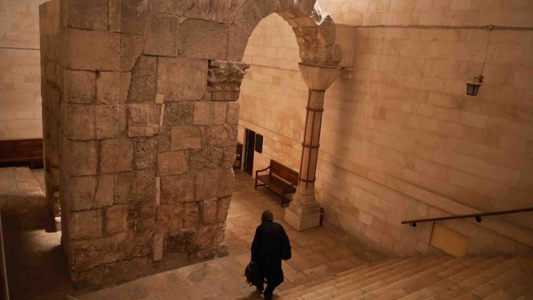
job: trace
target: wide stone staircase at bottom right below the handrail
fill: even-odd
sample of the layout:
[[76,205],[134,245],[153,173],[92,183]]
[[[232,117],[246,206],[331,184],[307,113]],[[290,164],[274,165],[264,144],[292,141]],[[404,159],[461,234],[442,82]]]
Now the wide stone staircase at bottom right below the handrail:
[[533,299],[533,258],[393,258],[285,290],[278,299]]

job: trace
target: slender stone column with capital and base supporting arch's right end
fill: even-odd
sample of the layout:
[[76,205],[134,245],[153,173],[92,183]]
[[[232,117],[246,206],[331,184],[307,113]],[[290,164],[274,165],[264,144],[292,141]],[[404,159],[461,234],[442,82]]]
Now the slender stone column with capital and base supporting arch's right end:
[[300,63],[301,74],[309,88],[307,116],[302,143],[300,180],[296,194],[292,197],[289,208],[285,210],[285,222],[298,231],[319,226],[319,209],[314,197],[314,182],[316,181],[316,161],[319,157],[324,95],[325,90],[339,75],[339,69],[339,67],[321,67]]

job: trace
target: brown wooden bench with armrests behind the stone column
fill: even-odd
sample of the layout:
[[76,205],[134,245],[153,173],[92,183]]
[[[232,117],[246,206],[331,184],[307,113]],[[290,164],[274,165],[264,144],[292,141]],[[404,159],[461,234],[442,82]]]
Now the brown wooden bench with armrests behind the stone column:
[[[259,174],[267,170],[269,170],[269,174]],[[257,184],[257,181],[261,181],[263,184]],[[285,201],[285,195],[296,192],[296,185],[298,185],[298,172],[285,167],[276,160],[270,160],[269,167],[255,171],[255,190],[258,186],[266,186],[273,192],[277,192],[281,195],[281,206],[283,203],[291,201],[290,199]]]

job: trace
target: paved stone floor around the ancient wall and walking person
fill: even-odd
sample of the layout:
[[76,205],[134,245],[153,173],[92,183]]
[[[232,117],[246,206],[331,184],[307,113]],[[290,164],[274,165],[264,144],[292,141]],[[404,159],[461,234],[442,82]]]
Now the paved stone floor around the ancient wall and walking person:
[[[284,208],[278,195],[265,188],[253,189],[253,178],[236,172],[236,187],[228,214],[226,242],[230,256],[139,278],[88,294],[79,300],[123,299],[260,299],[244,279],[250,245],[264,210],[274,213],[293,247],[293,258],[283,263],[287,290],[308,281],[331,276],[359,265],[383,259],[330,226],[303,233],[282,221]],[[11,299],[57,300],[73,292],[60,233],[53,233],[42,192],[42,170],[0,168],[0,203]]]

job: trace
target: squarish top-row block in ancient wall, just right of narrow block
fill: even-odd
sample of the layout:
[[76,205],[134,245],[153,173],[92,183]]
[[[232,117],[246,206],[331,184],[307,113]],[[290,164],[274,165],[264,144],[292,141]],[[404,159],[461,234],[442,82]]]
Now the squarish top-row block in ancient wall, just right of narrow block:
[[144,35],[148,17],[148,0],[110,0],[110,29],[121,33]]

